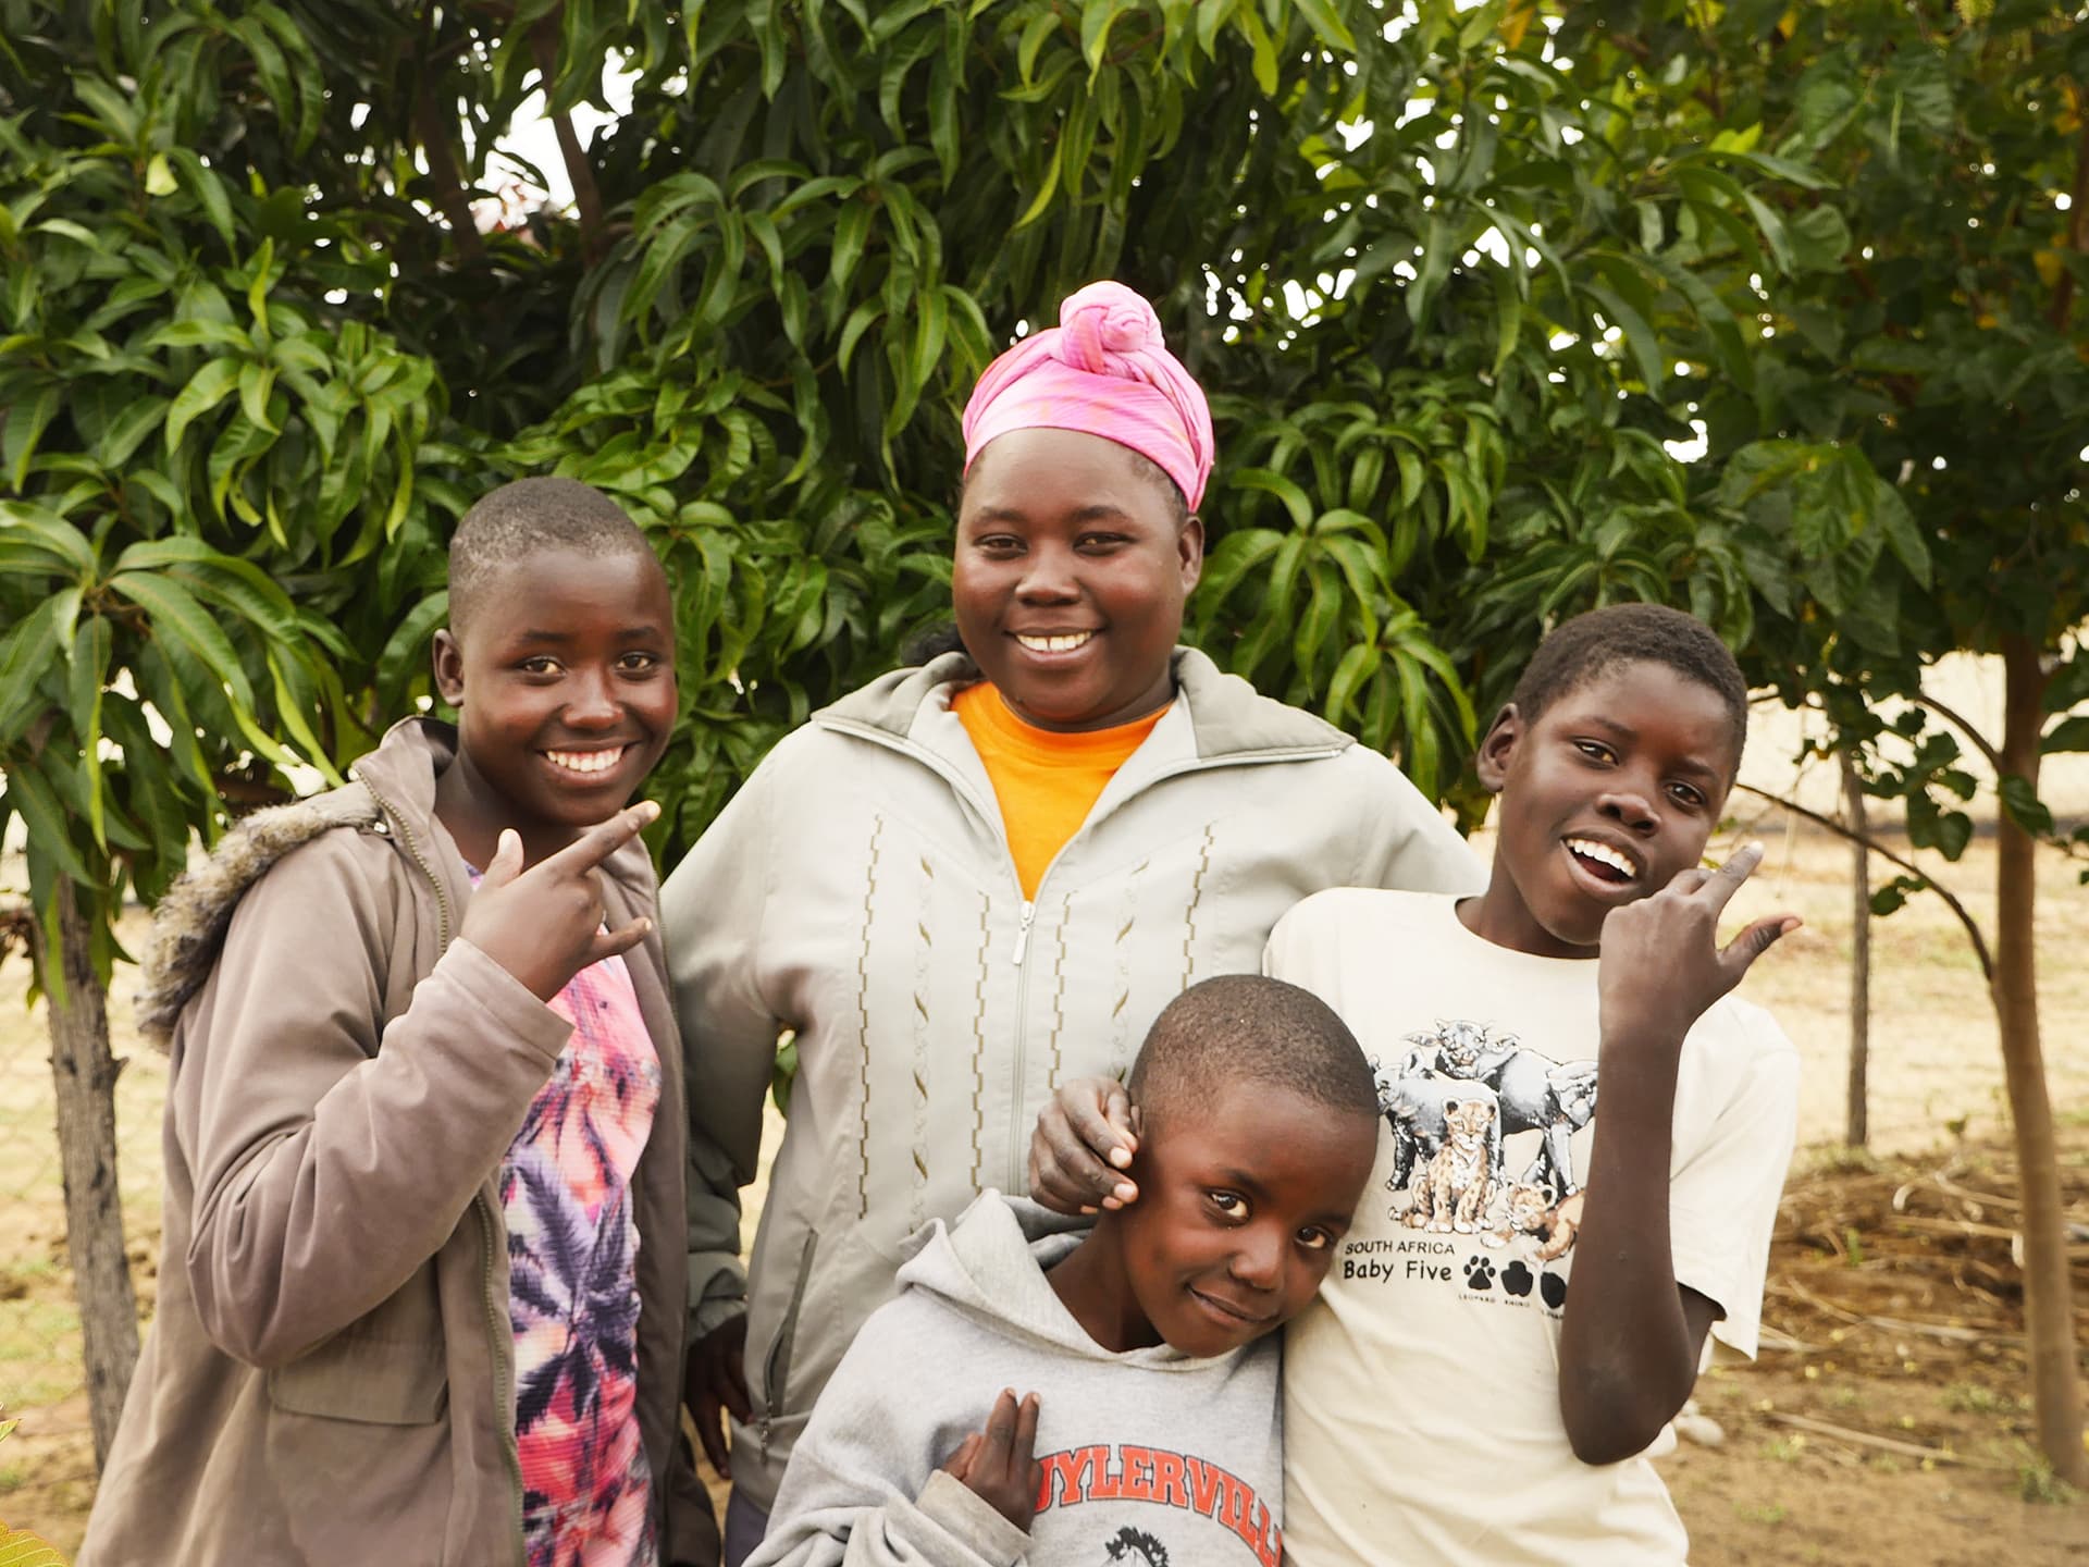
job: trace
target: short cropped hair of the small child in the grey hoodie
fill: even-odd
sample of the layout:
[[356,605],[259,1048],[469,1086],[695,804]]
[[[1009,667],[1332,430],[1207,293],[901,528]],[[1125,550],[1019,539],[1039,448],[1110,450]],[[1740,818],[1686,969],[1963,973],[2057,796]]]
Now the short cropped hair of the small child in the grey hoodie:
[[1143,1116],[1166,1118],[1241,1082],[1379,1114],[1370,1063],[1349,1026],[1310,990],[1260,974],[1222,974],[1170,1001],[1126,1086]]

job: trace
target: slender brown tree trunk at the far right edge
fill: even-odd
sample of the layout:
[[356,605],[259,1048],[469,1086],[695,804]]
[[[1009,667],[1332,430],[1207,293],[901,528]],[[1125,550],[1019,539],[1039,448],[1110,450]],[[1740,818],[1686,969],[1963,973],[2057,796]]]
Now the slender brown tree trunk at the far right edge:
[[[2039,784],[2039,729],[2047,675],[2028,637],[2003,637],[2001,773]],[[2001,1066],[2016,1130],[2016,1178],[2024,1218],[2024,1325],[2031,1337],[2031,1391],[2039,1448],[2070,1486],[2089,1486],[2083,1452],[2081,1383],[2074,1364],[2074,1310],[2068,1287],[2066,1218],[2060,1203],[2060,1149],[2039,1043],[2037,844],[1997,813],[1995,1013]]]

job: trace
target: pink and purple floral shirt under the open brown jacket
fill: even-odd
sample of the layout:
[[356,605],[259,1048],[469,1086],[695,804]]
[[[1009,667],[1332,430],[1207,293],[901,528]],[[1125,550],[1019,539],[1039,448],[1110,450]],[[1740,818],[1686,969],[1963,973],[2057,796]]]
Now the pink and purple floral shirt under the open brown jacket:
[[660,1057],[620,957],[572,976],[551,1011],[572,1038],[501,1162],[522,1538],[529,1567],[654,1567],[631,1176]]

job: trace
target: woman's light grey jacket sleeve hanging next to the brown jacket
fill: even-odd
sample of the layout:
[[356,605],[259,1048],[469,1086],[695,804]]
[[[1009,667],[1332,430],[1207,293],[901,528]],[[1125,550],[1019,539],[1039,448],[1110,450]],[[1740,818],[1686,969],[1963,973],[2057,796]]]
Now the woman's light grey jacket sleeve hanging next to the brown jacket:
[[691,1341],[746,1310],[740,1187],[754,1178],[783,1028],[760,984],[775,773],[771,756],[660,888],[689,1089]]

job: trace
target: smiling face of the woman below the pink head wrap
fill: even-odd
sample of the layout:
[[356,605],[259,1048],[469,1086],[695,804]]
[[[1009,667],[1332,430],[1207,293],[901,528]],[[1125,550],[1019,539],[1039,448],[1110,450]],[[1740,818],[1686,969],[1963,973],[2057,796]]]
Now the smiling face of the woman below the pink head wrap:
[[1161,706],[1203,524],[1168,478],[1080,430],[1009,430],[971,464],[950,598],[980,671],[1040,729]]

